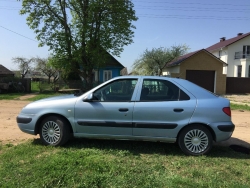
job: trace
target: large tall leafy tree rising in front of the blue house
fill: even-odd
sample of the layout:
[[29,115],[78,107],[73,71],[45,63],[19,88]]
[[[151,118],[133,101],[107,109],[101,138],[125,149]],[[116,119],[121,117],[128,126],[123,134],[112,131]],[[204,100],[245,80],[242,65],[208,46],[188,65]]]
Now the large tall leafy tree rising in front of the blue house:
[[89,84],[106,51],[119,56],[133,42],[133,7],[131,0],[22,0],[20,13],[28,14],[39,46],[49,46],[62,68],[77,71]]

